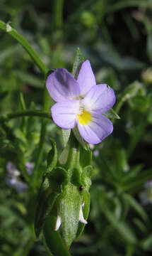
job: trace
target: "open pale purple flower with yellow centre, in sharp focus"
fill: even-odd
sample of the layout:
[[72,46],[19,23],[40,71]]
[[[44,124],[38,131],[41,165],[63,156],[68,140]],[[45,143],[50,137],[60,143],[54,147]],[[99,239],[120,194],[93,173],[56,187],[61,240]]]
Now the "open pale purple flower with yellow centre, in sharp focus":
[[96,85],[89,60],[81,65],[77,80],[65,68],[57,68],[46,85],[57,102],[51,112],[59,127],[73,129],[77,124],[81,137],[90,144],[112,133],[112,122],[103,114],[115,104],[115,93],[105,84]]

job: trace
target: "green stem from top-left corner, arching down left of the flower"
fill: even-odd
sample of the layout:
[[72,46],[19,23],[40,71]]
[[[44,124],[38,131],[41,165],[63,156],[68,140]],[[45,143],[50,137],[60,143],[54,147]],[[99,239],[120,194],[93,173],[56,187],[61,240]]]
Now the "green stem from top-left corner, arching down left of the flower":
[[[42,73],[47,75],[48,73],[48,68],[44,63],[42,63],[42,60],[40,59],[39,55],[35,53],[35,50],[30,46],[30,43],[23,38],[15,29],[11,28],[9,23],[4,23],[3,21],[0,21],[0,28],[5,31],[6,33],[10,34],[13,38],[18,41],[18,43],[21,43],[21,46],[28,52],[30,57],[33,59],[33,62],[35,65],[37,65],[38,68],[42,71]],[[44,89],[44,97],[43,97],[43,110],[47,111],[49,110],[49,94],[47,92],[47,88],[45,87]],[[47,119],[42,119],[42,126],[41,126],[41,133],[40,133],[40,142],[39,142],[39,147],[38,147],[38,152],[37,152],[37,161],[35,164],[35,169],[33,171],[33,181],[35,183],[37,179],[37,170],[40,166],[40,163],[42,161],[42,153],[43,153],[43,148],[44,148],[44,142],[45,142],[45,134],[46,134],[46,127],[47,127]]]

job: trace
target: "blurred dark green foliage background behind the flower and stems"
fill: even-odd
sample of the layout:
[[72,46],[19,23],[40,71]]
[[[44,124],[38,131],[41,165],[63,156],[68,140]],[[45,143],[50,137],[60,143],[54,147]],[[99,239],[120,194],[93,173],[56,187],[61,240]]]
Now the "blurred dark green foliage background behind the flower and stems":
[[[152,1],[0,0],[0,18],[21,33],[42,61],[71,72],[76,49],[90,60],[97,83],[115,90],[121,119],[101,145],[93,147],[93,184],[88,225],[72,255],[147,256],[152,253]],[[0,31],[0,114],[42,109],[44,76],[28,53]],[[24,103],[23,103],[24,102]],[[62,145],[60,130],[47,126]],[[35,240],[30,188],[8,186],[9,161],[21,172],[35,163],[40,118],[0,124],[0,256],[47,255]]]

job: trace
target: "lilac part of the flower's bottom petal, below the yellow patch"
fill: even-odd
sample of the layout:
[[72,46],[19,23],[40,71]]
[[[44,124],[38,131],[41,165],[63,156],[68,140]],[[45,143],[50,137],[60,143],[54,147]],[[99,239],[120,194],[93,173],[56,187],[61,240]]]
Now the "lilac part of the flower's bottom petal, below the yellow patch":
[[86,124],[78,123],[78,131],[83,139],[90,144],[98,144],[113,131],[112,122],[103,114],[95,114],[91,121]]

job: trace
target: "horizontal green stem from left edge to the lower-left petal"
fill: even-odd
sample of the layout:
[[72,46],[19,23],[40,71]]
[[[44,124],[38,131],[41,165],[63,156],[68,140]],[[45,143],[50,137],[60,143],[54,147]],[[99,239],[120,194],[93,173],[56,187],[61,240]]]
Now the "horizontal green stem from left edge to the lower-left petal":
[[23,110],[21,112],[14,112],[10,114],[4,114],[0,117],[0,122],[6,122],[10,119],[14,119],[16,117],[25,117],[25,116],[33,116],[33,117],[43,117],[47,119],[51,119],[51,113],[50,112],[42,112],[39,110]]

